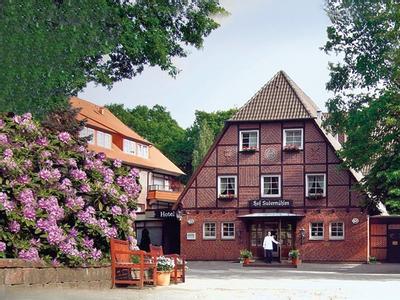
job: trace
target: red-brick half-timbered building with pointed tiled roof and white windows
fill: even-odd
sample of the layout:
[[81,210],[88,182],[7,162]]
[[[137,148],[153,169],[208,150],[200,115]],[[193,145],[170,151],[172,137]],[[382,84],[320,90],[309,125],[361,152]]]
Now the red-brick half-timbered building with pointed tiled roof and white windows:
[[367,261],[368,215],[345,169],[339,138],[315,103],[280,71],[230,120],[178,201],[181,254],[192,260],[263,257],[268,231],[277,260]]

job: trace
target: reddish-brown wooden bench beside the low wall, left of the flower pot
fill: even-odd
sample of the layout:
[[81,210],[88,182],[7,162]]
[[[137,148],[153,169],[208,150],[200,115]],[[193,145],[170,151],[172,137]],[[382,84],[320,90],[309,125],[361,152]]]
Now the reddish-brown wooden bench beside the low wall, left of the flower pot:
[[137,285],[139,288],[145,283],[156,285],[157,256],[130,250],[128,241],[111,239],[110,246],[112,288],[117,284]]

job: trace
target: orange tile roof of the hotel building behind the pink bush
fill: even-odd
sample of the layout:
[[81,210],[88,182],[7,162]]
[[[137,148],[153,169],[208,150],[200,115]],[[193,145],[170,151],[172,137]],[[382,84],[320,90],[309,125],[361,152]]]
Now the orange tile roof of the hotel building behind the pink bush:
[[101,106],[77,97],[70,98],[70,103],[73,107],[81,108],[77,118],[79,120],[85,119],[88,127],[105,130],[111,134],[119,134],[137,142],[148,144],[149,158],[146,159],[127,154],[123,152],[122,149],[120,149],[114,142],[111,145],[111,149],[89,144],[88,148],[90,150],[95,152],[104,152],[107,157],[111,159],[120,159],[126,164],[151,169],[156,172],[167,173],[176,176],[184,174],[173,162],[165,157],[160,150],[122,123],[121,120],[114,116],[107,108],[103,108],[101,113]]

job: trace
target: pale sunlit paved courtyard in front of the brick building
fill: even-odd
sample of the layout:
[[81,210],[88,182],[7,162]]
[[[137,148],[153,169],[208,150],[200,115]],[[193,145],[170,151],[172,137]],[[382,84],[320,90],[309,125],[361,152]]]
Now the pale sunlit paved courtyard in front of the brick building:
[[187,282],[168,287],[0,290],[0,299],[399,299],[400,264],[303,264],[299,269],[189,262]]

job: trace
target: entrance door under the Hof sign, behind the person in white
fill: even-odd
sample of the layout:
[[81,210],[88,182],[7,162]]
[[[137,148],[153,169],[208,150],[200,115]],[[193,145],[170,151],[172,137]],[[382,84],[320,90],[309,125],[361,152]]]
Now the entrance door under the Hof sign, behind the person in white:
[[[256,258],[265,259],[263,248],[264,237],[271,232],[271,235],[279,241],[279,223],[278,222],[254,222],[251,224],[250,233],[250,251]],[[274,260],[280,260],[279,246],[273,244],[272,257]]]

